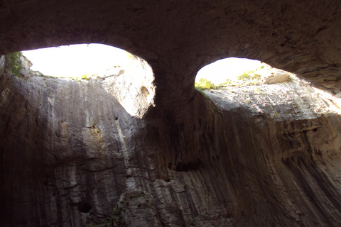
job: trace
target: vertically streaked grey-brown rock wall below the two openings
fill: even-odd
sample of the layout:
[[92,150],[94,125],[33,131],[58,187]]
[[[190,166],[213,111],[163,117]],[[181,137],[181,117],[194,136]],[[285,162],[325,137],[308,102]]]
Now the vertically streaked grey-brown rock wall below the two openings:
[[140,118],[117,76],[1,74],[2,226],[340,226],[341,118],[313,88],[193,92]]

